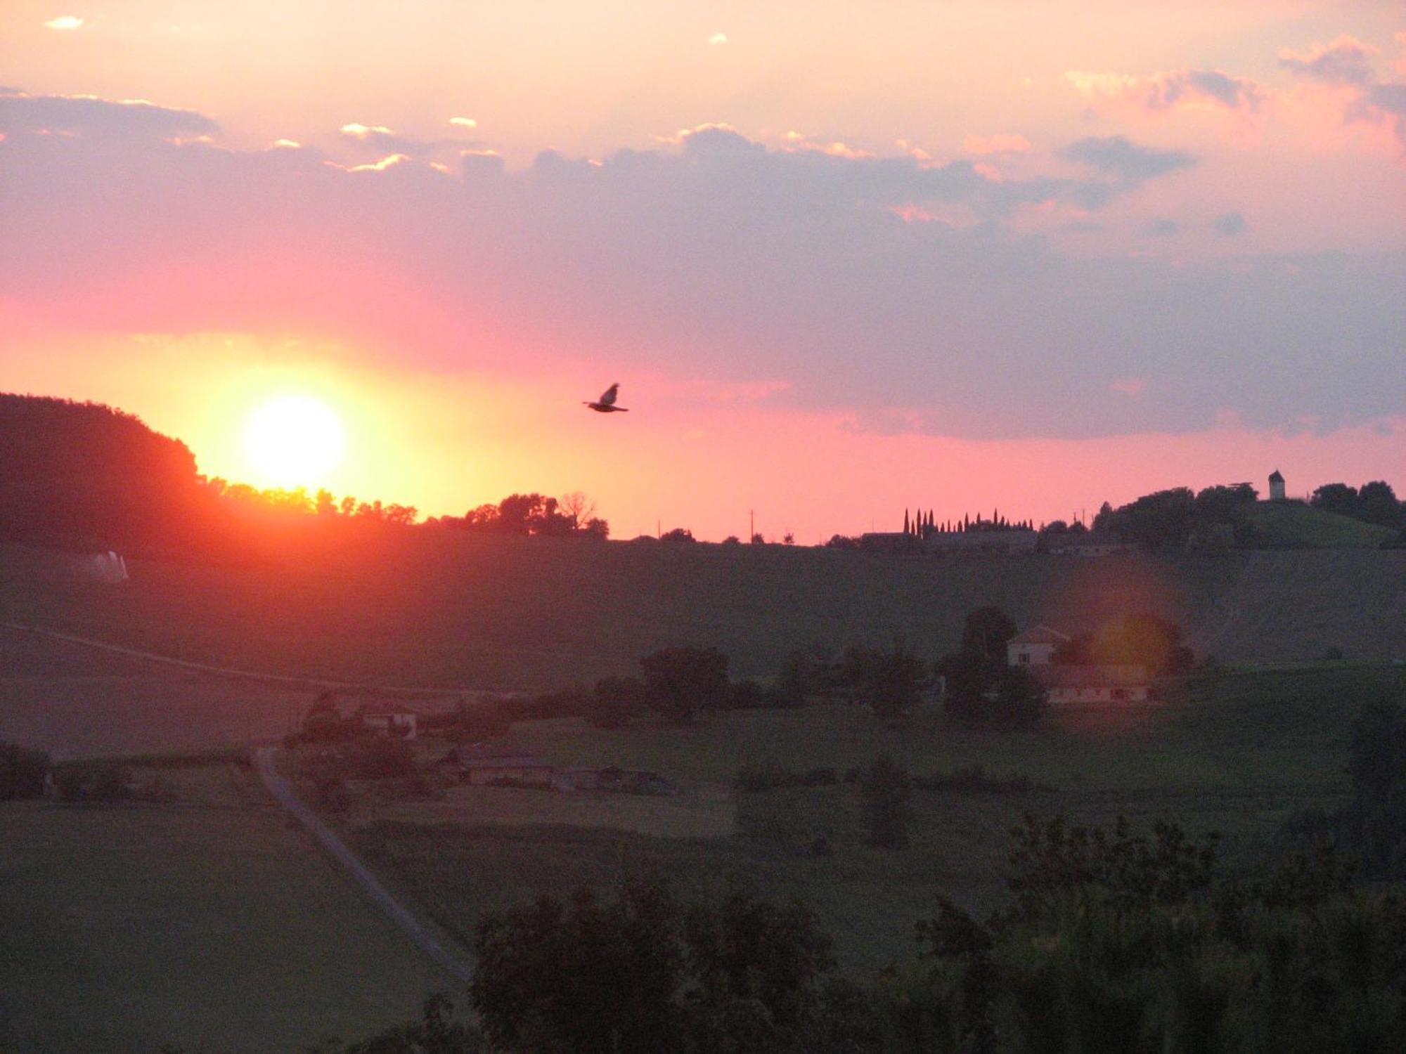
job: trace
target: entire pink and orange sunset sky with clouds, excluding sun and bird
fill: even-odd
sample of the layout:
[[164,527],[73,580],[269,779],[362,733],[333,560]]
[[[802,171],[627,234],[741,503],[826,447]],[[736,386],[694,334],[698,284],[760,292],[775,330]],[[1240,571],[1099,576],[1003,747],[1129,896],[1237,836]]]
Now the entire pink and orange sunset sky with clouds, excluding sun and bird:
[[0,389],[211,475],[301,396],[614,537],[1406,489],[1399,0],[7,0],[0,86]]

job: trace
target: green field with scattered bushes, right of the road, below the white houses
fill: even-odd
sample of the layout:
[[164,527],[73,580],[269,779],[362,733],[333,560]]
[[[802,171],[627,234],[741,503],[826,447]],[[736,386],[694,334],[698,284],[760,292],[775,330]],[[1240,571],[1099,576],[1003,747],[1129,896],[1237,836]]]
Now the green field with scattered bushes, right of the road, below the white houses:
[[[524,812],[546,793],[495,787],[475,788],[481,812],[471,821],[413,819],[391,807],[349,821],[349,836],[465,940],[484,911],[651,871],[685,895],[735,884],[770,899],[799,897],[835,937],[841,964],[872,977],[911,953],[912,923],[935,912],[939,895],[979,912],[1004,902],[1008,832],[1026,812],[1105,826],[1126,815],[1144,831],[1167,816],[1197,835],[1220,831],[1230,866],[1258,859],[1289,814],[1347,800],[1347,743],[1360,704],[1400,693],[1403,680],[1389,668],[1237,675],[1140,721],[1085,711],[1018,734],[972,731],[941,717],[886,728],[823,707],[734,713],[686,729],[548,721],[519,724],[512,734],[560,765],[655,770],[681,784],[681,797],[728,784],[744,763],[842,772],[880,750],[915,774],[981,765],[991,776],[1021,774],[1050,788],[915,791],[912,845],[900,853],[863,845],[858,795],[848,786],[735,793],[737,833],[725,838],[699,838],[685,825],[640,833],[606,816],[564,822],[557,808],[533,824]],[[592,801],[613,808],[607,797],[574,808]],[[820,836],[830,854],[813,852]]]

